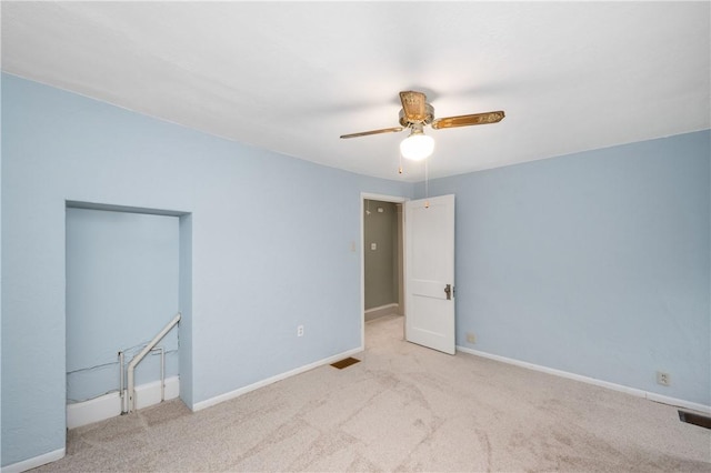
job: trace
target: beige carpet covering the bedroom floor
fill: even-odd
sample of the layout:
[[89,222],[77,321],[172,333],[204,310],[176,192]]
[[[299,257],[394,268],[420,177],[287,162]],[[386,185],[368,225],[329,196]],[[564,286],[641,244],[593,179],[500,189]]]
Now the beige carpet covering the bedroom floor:
[[191,413],[166,402],[69,432],[40,472],[711,471],[677,407],[402,341],[367,323],[360,363],[324,365]]

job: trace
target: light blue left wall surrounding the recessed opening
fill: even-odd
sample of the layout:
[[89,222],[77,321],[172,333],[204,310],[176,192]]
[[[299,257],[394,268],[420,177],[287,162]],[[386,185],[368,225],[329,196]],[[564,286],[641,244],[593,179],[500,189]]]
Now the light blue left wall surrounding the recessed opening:
[[1,464],[64,447],[66,201],[190,214],[180,369],[194,405],[359,348],[360,194],[412,188],[3,74]]

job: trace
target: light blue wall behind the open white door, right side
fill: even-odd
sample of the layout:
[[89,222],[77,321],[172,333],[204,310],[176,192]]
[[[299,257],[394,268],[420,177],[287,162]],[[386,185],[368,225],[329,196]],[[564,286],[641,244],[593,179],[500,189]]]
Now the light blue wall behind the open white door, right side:
[[431,181],[430,195],[457,194],[458,344],[711,404],[709,142]]

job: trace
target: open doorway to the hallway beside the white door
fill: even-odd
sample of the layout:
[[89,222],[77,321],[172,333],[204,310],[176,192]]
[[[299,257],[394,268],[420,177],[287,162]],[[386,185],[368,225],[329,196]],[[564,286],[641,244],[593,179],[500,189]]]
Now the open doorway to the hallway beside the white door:
[[361,197],[364,324],[381,316],[405,313],[404,199],[377,194]]

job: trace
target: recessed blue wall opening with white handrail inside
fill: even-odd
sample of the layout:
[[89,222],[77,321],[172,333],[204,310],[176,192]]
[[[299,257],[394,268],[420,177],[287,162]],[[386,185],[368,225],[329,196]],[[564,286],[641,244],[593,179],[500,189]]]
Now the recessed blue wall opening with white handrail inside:
[[190,405],[180,380],[192,369],[191,222],[183,212],[67,201],[68,429],[126,412],[128,363],[179,313],[180,328],[134,371],[133,407],[178,396]]

